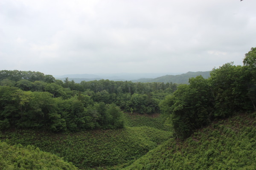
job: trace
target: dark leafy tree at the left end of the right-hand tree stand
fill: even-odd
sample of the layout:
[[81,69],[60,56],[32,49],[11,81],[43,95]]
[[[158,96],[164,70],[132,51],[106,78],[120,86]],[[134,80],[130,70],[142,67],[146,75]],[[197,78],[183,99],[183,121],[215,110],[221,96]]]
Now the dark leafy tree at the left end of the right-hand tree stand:
[[212,112],[213,99],[207,79],[201,76],[189,79],[190,85],[180,85],[173,94],[165,99],[161,106],[168,115],[179,138],[184,138],[192,130],[207,125]]

